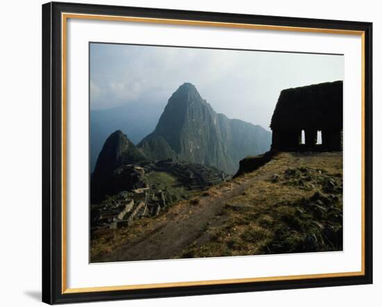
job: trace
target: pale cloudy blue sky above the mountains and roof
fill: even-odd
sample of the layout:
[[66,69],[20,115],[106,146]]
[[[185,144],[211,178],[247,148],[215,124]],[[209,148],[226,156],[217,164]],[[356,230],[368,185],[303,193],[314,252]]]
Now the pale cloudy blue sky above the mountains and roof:
[[281,90],[343,80],[344,56],[90,44],[90,109],[165,107],[185,82],[217,113],[269,130]]

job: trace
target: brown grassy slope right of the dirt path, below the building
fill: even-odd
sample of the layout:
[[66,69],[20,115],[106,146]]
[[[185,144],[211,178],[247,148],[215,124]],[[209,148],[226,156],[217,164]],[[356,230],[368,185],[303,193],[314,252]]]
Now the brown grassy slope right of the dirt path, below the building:
[[256,182],[226,204],[182,258],[342,249],[342,154],[283,153],[244,175]]

